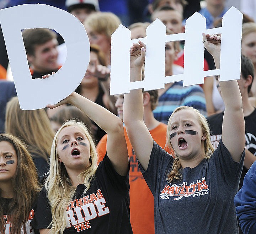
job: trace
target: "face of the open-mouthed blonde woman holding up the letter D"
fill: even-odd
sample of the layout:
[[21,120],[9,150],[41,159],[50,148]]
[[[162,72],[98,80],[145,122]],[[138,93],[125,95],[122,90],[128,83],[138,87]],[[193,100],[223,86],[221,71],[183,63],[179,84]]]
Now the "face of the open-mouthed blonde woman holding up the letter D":
[[79,126],[64,127],[57,137],[57,154],[67,172],[83,171],[89,165],[90,142]]

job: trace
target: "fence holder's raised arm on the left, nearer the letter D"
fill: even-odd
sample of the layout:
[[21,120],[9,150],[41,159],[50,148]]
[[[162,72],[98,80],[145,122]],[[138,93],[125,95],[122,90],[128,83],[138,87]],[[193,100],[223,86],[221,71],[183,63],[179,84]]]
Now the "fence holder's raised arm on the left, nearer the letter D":
[[[130,49],[130,81],[142,80],[145,61],[145,45],[133,44]],[[131,90],[124,95],[123,121],[133,150],[143,169],[148,168],[153,138],[143,121],[142,89]]]

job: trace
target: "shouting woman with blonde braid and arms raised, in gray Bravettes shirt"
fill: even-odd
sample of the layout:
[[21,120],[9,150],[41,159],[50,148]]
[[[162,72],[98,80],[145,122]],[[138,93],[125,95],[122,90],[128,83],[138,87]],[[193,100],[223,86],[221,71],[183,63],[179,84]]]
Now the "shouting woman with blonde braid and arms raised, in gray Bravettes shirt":
[[[220,41],[218,35],[203,34],[217,69]],[[130,49],[131,82],[141,80],[144,61],[145,44],[139,41]],[[244,161],[242,98],[236,80],[222,81],[220,88],[225,112],[218,148],[212,147],[204,116],[181,106],[167,125],[166,145],[174,149],[174,157],[153,140],[143,122],[142,90],[124,95],[124,124],[154,196],[155,233],[238,233],[233,201]]]

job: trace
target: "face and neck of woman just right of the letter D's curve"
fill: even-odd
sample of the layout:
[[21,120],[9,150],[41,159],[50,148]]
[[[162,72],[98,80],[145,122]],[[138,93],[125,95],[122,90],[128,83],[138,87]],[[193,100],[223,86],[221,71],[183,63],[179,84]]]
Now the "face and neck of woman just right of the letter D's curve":
[[98,56],[94,51],[90,53],[90,62],[87,67],[84,78],[82,79],[81,85],[86,88],[94,87],[98,85],[98,78],[94,76],[96,65],[99,64]]

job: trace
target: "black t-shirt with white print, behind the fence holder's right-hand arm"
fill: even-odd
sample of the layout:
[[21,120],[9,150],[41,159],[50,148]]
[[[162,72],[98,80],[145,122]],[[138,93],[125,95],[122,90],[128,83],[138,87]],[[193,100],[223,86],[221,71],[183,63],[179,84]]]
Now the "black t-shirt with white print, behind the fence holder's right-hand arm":
[[[207,117],[209,127],[211,130],[211,142],[214,148],[219,145],[220,138],[222,136],[222,122],[224,111],[215,115]],[[256,156],[256,109],[244,117],[245,119],[245,148]],[[242,175],[239,184],[239,190],[242,187],[245,174],[248,172],[246,167],[243,167]]]

